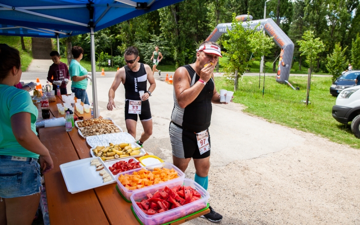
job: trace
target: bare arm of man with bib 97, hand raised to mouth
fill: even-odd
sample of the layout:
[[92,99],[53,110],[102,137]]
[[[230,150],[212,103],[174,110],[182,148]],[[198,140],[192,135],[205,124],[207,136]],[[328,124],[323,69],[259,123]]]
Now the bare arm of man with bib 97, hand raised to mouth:
[[[211,75],[214,66],[208,64],[203,67],[200,72],[200,79],[207,82]],[[195,84],[190,87],[190,76],[184,67],[179,67],[176,69],[173,76],[173,85],[175,90],[175,95],[177,102],[181,108],[186,107],[198,96],[204,84],[202,82],[195,82]]]

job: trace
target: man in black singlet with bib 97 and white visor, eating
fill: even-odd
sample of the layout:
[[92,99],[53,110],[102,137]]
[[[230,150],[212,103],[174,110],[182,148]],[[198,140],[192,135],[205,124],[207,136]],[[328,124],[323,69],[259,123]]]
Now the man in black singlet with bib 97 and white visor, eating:
[[[169,125],[172,161],[185,172],[192,158],[196,169],[194,180],[204,189],[210,168],[211,103],[221,103],[212,73],[219,56],[219,45],[204,41],[197,49],[195,63],[177,68],[173,76],[174,107]],[[222,216],[209,208],[210,212],[203,217],[220,221]]]

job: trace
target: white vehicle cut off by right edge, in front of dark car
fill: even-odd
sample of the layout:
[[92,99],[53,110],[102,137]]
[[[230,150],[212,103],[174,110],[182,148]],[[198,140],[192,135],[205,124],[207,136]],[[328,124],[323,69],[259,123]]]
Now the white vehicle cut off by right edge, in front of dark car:
[[351,122],[353,134],[360,138],[360,85],[343,89],[332,106],[332,117],[338,122]]

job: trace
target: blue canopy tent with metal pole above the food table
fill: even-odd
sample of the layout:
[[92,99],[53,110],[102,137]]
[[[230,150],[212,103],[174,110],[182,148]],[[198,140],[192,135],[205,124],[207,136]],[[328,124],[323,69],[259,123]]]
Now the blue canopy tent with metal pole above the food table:
[[[94,32],[182,0],[0,0],[0,35],[61,38],[90,33],[92,99],[98,117]],[[58,41],[57,41],[58,43]]]

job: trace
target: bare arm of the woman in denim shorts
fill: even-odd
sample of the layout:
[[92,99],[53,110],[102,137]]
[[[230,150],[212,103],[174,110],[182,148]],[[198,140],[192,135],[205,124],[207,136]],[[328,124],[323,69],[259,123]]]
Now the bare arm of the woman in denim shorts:
[[53,168],[53,162],[47,148],[31,130],[31,114],[29,112],[18,112],[11,116],[11,128],[17,142],[27,150],[39,154],[42,173]]

